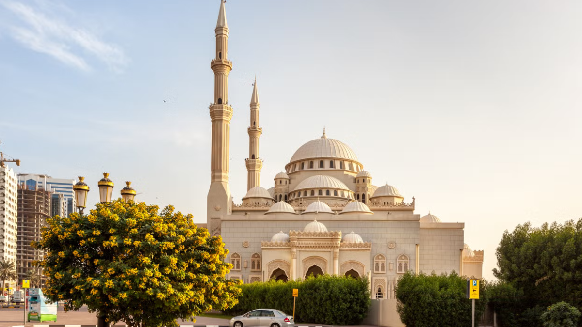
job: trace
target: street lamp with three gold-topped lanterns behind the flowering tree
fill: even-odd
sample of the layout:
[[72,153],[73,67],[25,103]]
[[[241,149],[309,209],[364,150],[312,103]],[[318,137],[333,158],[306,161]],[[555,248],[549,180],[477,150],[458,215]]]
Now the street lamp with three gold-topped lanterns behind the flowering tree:
[[[89,186],[83,182],[85,178],[79,177],[79,182],[74,184],[73,190],[75,198],[77,200],[77,208],[79,209],[79,214],[83,214],[83,209],[87,206],[87,193],[89,193]],[[126,187],[121,190],[121,196],[123,200],[133,201],[136,197],[136,190],[130,185],[132,182],[125,182]],[[103,173],[103,178],[97,183],[99,186],[99,198],[101,203],[111,202],[111,194],[113,191],[113,181],[109,179],[109,173]],[[97,327],[109,327],[109,323],[105,320],[107,318],[106,312],[98,312],[97,315]]]

